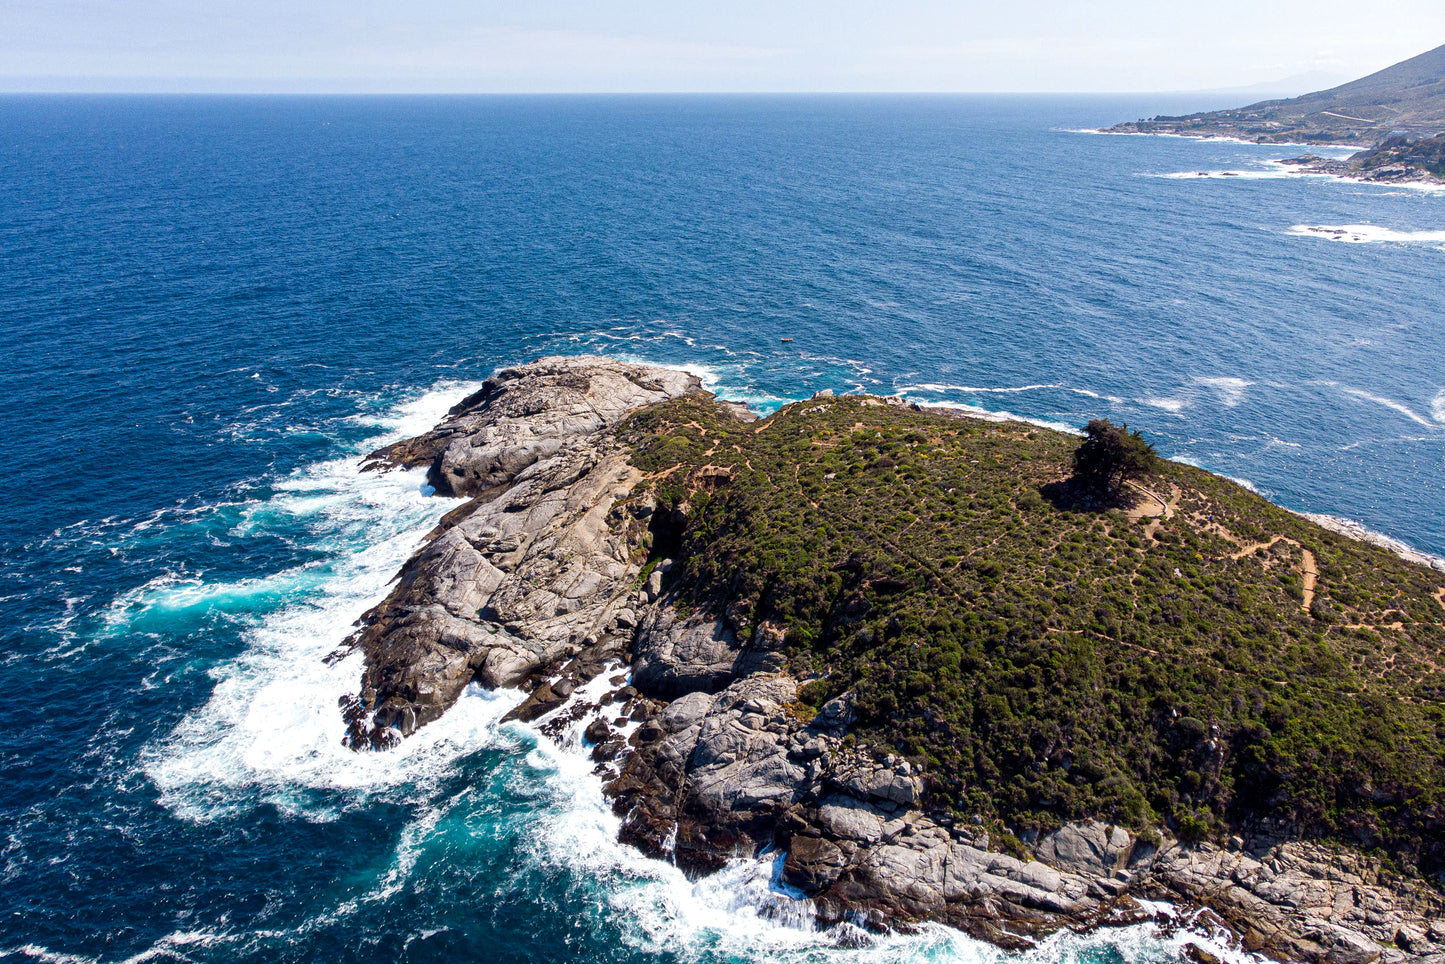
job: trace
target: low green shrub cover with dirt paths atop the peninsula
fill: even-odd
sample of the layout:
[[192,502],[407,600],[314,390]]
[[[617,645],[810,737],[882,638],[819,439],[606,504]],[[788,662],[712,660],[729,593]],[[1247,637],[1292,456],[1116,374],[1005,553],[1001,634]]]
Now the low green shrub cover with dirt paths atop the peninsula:
[[1445,577],[1176,462],[1094,503],[1079,439],[879,399],[647,409],[672,590],[786,630],[808,707],[1014,832],[1269,827],[1445,867]]

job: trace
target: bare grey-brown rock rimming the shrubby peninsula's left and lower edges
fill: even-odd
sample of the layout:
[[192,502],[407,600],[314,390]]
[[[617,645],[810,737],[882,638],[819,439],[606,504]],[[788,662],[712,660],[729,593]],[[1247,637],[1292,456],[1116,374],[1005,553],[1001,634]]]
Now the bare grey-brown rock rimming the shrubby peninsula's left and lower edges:
[[543,358],[373,454],[370,468],[426,465],[438,493],[467,502],[338,650],[366,660],[342,700],[347,743],[394,746],[474,681],[519,687],[516,718],[552,734],[585,726],[626,843],[696,873],[785,851],[783,882],[825,922],[942,921],[1023,948],[1065,928],[1169,922],[1163,900],[1276,960],[1445,964],[1439,892],[1285,828],[1225,847],[1100,822],[1017,840],[926,812],[928,773],[855,746],[847,694],[816,714],[799,702],[782,627],[749,632],[673,591],[685,519],[616,429],[701,392],[682,371]]

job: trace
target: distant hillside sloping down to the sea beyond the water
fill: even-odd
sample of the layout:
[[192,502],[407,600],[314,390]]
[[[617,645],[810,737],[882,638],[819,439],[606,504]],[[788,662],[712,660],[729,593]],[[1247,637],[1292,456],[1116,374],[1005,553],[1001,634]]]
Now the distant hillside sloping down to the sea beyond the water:
[[1360,143],[1445,130],[1445,46],[1325,91],[1233,110],[1153,117],[1116,133],[1240,137],[1260,143]]

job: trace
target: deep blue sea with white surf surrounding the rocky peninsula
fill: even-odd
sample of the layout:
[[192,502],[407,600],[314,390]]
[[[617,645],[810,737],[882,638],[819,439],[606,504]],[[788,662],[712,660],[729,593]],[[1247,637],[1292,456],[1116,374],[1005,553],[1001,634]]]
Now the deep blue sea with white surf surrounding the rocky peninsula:
[[0,960],[1009,957],[643,860],[510,695],[342,750],[321,658],[448,507],[357,457],[595,351],[762,409],[1105,415],[1445,554],[1445,194],[1077,133],[1189,107],[0,98]]

